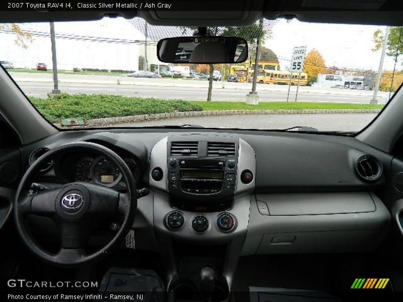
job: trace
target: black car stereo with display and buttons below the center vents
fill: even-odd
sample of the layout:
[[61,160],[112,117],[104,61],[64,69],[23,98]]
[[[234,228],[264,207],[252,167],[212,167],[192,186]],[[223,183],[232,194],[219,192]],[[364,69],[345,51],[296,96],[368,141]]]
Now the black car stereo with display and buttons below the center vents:
[[168,158],[167,161],[172,198],[215,201],[234,197],[236,159]]

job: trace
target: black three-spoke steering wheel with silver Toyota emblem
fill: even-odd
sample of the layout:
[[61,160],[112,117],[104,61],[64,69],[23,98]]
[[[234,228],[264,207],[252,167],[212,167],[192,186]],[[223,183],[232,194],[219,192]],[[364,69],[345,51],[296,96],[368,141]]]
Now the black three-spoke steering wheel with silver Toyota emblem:
[[[74,182],[57,188],[29,192],[32,179],[42,164],[65,152],[95,152],[115,164],[126,183],[127,192],[88,182]],[[50,149],[37,159],[23,176],[14,201],[17,230],[26,246],[39,258],[57,266],[77,266],[106,256],[133,225],[137,208],[136,181],[126,163],[112,150],[91,142],[73,142]],[[60,230],[61,247],[55,254],[44,250],[32,237],[26,222],[28,214],[52,217]],[[90,231],[103,219],[120,215],[123,222],[113,239],[100,250],[87,254],[84,246]]]

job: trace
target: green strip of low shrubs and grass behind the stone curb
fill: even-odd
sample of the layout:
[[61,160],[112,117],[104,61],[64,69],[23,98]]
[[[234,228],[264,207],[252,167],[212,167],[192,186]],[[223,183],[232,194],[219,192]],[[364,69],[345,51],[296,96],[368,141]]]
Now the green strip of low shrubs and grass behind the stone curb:
[[51,122],[62,118],[86,119],[117,117],[138,114],[203,110],[302,110],[302,109],[381,109],[383,105],[309,102],[260,102],[246,105],[243,102],[201,102],[162,100],[156,98],[123,97],[114,95],[60,94],[48,99],[29,98],[34,106]]

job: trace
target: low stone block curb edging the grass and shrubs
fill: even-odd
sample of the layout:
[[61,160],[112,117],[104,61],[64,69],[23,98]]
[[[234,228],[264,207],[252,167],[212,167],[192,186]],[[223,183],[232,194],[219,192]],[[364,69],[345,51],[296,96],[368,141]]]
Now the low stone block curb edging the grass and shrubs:
[[[169,118],[183,118],[193,116],[212,116],[212,115],[255,115],[255,114],[352,114],[352,113],[379,113],[380,110],[370,109],[301,109],[301,110],[208,110],[208,111],[185,111],[171,113],[139,114],[118,117],[94,118],[87,120],[87,126],[99,126],[116,123],[142,122],[148,120],[159,120]],[[60,124],[55,124],[60,127]],[[63,126],[63,128],[68,128]],[[74,127],[78,128],[78,127]]]

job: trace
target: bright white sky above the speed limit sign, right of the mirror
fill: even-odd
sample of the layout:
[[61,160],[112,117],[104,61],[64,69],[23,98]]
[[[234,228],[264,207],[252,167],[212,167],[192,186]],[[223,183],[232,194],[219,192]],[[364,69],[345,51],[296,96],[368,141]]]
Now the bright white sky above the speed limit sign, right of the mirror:
[[[352,69],[378,70],[381,50],[373,52],[373,33],[384,26],[315,24],[293,20],[278,20],[272,28],[272,38],[264,46],[272,49],[280,59],[280,66],[289,66],[292,49],[307,46],[307,52],[316,49],[325,65]],[[392,70],[394,58],[385,56],[383,69]],[[396,68],[401,69],[400,62]]]

